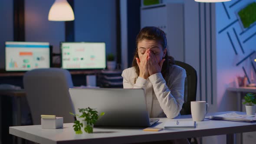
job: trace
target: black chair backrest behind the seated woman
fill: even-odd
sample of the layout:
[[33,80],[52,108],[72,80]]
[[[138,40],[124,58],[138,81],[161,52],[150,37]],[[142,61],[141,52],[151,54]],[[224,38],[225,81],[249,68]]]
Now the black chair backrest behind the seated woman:
[[197,71],[185,62],[175,61],[175,64],[185,69],[187,73],[181,115],[191,115],[190,101],[197,99]]

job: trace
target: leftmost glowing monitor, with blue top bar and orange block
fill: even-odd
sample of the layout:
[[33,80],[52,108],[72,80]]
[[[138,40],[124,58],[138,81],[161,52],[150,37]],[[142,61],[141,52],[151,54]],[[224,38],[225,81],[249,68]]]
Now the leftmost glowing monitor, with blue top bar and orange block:
[[5,70],[28,71],[50,67],[50,46],[44,42],[5,42]]

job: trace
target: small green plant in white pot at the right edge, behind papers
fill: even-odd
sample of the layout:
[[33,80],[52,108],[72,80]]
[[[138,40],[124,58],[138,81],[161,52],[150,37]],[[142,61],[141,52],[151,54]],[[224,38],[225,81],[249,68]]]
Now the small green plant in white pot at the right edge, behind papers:
[[245,105],[246,103],[248,103],[247,105],[245,105],[246,115],[254,115],[255,114],[255,105],[253,105],[253,104],[256,104],[255,94],[247,93],[246,96],[244,96],[244,99],[245,99],[245,101],[243,102],[243,104]]

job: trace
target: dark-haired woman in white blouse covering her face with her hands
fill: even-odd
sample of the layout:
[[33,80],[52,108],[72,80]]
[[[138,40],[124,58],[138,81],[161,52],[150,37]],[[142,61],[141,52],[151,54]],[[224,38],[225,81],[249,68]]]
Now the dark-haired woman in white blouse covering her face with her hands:
[[175,118],[184,103],[186,71],[167,54],[165,33],[144,27],[136,38],[132,67],[122,73],[124,88],[143,88],[150,118]]

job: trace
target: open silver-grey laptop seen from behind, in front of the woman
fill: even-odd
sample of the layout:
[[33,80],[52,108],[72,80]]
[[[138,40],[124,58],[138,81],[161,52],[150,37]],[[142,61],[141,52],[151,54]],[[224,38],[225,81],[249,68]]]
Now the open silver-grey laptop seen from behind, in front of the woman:
[[95,126],[149,127],[159,121],[149,119],[143,89],[70,88],[69,94],[75,114],[88,107],[105,112]]

